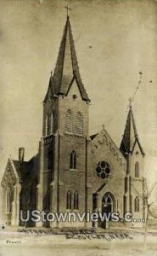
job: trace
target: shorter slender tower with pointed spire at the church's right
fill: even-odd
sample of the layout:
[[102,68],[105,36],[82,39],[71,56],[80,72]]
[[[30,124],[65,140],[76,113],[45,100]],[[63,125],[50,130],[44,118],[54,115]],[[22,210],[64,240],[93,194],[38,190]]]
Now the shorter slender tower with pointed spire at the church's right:
[[131,103],[120,150],[124,154],[127,164],[124,213],[132,212],[133,218],[144,218],[143,191],[146,181],[143,177],[143,160],[145,154],[137,135]]

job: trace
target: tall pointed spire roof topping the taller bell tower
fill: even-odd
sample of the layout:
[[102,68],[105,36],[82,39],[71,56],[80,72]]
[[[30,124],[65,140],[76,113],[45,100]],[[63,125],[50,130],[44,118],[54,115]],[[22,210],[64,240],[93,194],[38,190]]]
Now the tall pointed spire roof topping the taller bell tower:
[[[76,49],[72,36],[70,19],[67,16],[67,20],[64,26],[64,33],[59,47],[59,55],[54,68],[53,76],[49,80],[49,88],[51,88],[55,95],[66,95],[69,89],[70,83],[73,79],[76,79],[79,90],[81,92],[81,98],[84,101],[90,101],[84,85],[81,81],[81,75],[76,58]],[[44,99],[46,101],[48,93]]]

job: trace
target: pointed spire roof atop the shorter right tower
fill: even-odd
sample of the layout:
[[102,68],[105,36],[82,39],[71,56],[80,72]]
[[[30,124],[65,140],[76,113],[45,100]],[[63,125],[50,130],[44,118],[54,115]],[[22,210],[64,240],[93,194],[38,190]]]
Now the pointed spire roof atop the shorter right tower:
[[124,155],[128,153],[132,153],[136,143],[138,144],[138,147],[140,148],[141,153],[144,155],[143,148],[139,142],[139,138],[137,135],[137,127],[136,127],[135,119],[132,112],[132,106],[130,106],[129,112],[127,114],[127,119],[126,119],[126,128],[121,141],[121,147],[120,147],[121,152]]

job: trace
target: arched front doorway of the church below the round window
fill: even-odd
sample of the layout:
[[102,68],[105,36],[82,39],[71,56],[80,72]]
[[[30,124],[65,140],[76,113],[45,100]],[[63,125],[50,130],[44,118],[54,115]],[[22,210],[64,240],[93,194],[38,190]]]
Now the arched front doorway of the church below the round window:
[[115,197],[110,192],[107,192],[102,198],[102,216],[105,215],[104,221],[101,224],[102,228],[106,229],[112,212],[115,212]]

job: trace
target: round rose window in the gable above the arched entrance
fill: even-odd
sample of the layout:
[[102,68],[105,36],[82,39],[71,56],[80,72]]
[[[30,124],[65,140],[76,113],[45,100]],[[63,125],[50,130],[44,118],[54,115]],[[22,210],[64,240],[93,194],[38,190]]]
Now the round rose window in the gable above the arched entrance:
[[98,162],[95,171],[98,177],[101,177],[103,179],[108,178],[110,174],[110,166],[106,161],[100,161]]

